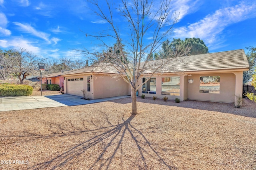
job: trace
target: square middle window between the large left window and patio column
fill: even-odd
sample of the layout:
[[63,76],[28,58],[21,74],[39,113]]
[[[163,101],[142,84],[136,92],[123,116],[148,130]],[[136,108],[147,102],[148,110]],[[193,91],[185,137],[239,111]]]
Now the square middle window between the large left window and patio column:
[[180,96],[180,77],[162,77],[162,95]]

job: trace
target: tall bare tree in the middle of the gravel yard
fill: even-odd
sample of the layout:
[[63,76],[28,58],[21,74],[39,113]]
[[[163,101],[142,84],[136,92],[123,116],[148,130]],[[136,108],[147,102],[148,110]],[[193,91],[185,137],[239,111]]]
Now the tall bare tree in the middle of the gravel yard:
[[[105,2],[88,0],[93,5],[93,12],[108,23],[108,29],[100,34],[86,33],[87,37],[94,37],[101,42],[104,53],[80,50],[92,58],[101,58],[102,63],[108,63],[118,70],[116,77],[122,77],[130,84],[132,91],[132,114],[137,113],[136,90],[145,84],[156,73],[174,71],[174,68],[165,68],[178,57],[186,55],[188,48],[179,53],[166,53],[165,59],[152,61],[152,54],[160,47],[164,39],[172,34],[173,25],[178,21],[178,16],[171,10],[170,0],[122,0],[119,8],[113,9],[117,2]],[[103,4],[106,3],[106,4]],[[104,8],[103,8],[104,6]],[[127,23],[126,29],[120,33],[119,23],[114,18],[114,12],[118,11],[123,17],[122,24]],[[121,25],[121,24],[120,24]],[[127,39],[127,35],[128,39]],[[107,37],[107,39],[105,39]],[[148,41],[151,37],[150,41]],[[109,39],[116,40],[116,48],[120,51],[112,53],[108,46]],[[126,49],[123,50],[123,45]],[[127,61],[123,59],[127,59]],[[142,78],[146,78],[142,82]]]

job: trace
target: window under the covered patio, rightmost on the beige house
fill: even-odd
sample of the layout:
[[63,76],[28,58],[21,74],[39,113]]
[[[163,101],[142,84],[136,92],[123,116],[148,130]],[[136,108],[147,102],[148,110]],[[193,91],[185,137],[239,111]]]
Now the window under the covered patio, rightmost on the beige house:
[[200,93],[220,93],[220,76],[200,77]]

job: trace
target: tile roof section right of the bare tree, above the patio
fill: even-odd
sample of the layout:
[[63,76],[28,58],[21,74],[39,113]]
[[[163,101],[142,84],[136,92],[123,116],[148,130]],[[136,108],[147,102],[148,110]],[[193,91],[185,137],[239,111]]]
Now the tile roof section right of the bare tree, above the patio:
[[[150,69],[143,73],[150,73],[165,60],[152,61]],[[154,66],[155,65],[155,66]],[[170,63],[159,68],[156,72],[195,72],[210,70],[248,70],[249,64],[243,49],[191,55],[173,59]]]

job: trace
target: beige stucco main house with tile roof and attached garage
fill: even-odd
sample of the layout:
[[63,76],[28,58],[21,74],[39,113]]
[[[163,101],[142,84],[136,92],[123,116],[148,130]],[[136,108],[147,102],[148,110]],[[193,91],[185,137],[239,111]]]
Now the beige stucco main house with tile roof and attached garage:
[[[157,64],[161,60],[150,62]],[[138,90],[139,96],[234,103],[235,96],[242,96],[243,71],[248,69],[242,49],[180,57],[158,69],[156,75]],[[144,70],[143,74],[151,72]],[[66,78],[64,92],[82,96],[81,90],[86,90],[91,99],[130,94],[128,83],[122,78],[113,78],[116,74],[113,67],[100,65],[62,74]],[[145,82],[147,77],[141,78]]]

